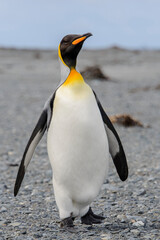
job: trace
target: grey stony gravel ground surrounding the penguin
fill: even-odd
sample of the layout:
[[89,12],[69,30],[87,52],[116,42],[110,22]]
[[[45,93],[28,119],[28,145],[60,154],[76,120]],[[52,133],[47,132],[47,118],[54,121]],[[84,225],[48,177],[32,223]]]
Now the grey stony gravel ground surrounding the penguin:
[[160,51],[112,48],[83,51],[79,69],[101,66],[109,81],[90,80],[108,115],[131,114],[146,127],[115,125],[129,178],[121,182],[112,160],[108,179],[92,204],[100,225],[59,228],[46,135],[18,196],[14,182],[25,145],[44,102],[57,86],[55,51],[0,50],[0,240],[160,239]]

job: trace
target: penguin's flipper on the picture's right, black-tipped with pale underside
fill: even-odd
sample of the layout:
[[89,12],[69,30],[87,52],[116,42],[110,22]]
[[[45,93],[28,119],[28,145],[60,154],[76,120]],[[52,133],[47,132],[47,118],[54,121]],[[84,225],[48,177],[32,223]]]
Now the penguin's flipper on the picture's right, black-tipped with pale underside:
[[107,133],[108,143],[109,143],[109,152],[112,156],[114,165],[116,167],[116,170],[120,179],[122,181],[125,181],[128,177],[128,165],[127,165],[127,160],[126,160],[126,156],[125,156],[125,152],[124,152],[121,140],[95,93],[94,95],[95,95],[103,122],[105,124],[105,130]]

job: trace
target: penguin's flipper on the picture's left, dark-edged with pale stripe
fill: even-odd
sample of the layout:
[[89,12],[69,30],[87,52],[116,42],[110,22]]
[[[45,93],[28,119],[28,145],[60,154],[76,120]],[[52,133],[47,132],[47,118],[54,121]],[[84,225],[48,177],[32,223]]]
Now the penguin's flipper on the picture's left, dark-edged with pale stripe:
[[26,168],[46,128],[47,128],[47,109],[44,109],[25,148],[14,186],[14,196],[16,196],[19,191],[19,188],[25,175]]

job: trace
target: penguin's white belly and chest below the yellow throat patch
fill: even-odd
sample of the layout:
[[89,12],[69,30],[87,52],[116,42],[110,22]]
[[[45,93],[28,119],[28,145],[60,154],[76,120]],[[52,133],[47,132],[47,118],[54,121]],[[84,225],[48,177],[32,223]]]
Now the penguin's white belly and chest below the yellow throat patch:
[[60,218],[84,215],[106,178],[109,158],[102,117],[87,84],[57,90],[47,147]]

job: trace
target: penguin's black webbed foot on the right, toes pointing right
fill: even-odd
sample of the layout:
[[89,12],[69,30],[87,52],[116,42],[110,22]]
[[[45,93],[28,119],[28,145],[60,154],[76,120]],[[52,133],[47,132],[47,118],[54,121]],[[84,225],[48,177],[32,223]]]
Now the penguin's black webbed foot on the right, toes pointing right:
[[86,215],[81,217],[81,222],[82,224],[92,225],[92,224],[102,223],[102,220],[104,219],[105,217],[94,214],[90,207]]

